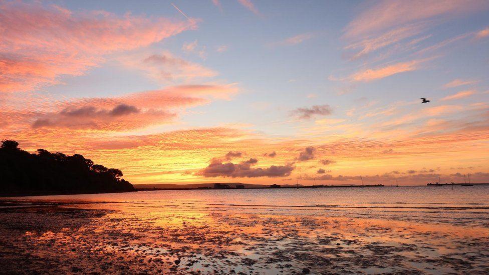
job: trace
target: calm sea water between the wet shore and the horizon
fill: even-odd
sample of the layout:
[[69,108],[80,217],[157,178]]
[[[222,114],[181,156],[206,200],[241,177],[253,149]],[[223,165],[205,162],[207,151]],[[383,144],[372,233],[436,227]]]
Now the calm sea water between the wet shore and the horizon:
[[106,202],[104,207],[143,212],[232,211],[489,226],[489,185],[168,190],[16,199]]

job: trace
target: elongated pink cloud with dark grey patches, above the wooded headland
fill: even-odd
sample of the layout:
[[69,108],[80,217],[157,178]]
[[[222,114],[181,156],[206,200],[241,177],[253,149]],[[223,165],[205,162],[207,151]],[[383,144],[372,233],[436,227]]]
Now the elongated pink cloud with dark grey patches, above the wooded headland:
[[171,122],[175,108],[202,105],[206,97],[223,98],[232,86],[187,85],[113,98],[86,98],[55,104],[56,111],[31,115],[33,128],[127,131]]

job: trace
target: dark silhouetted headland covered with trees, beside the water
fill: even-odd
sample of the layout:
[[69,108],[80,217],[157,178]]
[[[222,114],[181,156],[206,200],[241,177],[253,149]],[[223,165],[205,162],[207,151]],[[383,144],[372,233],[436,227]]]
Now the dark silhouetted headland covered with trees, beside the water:
[[0,196],[79,194],[133,191],[122,171],[74,154],[39,149],[31,154],[19,143],[3,140],[0,147]]

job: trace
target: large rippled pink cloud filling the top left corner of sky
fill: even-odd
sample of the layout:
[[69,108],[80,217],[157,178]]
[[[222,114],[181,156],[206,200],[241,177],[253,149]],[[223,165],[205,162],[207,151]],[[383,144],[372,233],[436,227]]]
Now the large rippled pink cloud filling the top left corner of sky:
[[0,26],[0,91],[28,91],[56,84],[62,75],[82,75],[106,54],[148,46],[195,23],[2,2]]

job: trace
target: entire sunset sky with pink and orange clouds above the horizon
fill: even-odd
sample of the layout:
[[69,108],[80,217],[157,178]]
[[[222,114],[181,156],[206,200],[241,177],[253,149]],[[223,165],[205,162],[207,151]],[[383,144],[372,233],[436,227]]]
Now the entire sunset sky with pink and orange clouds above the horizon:
[[0,139],[133,184],[489,182],[488,76],[487,1],[0,0]]

